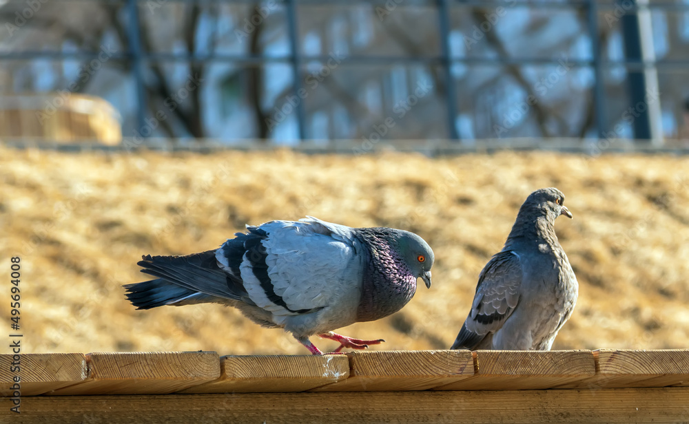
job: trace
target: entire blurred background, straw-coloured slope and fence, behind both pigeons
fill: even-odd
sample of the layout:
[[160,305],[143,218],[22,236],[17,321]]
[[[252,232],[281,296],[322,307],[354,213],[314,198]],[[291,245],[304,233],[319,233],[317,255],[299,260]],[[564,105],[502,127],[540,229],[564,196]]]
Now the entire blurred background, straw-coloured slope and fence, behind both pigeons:
[[424,237],[433,288],[341,332],[448,348],[553,186],[580,284],[553,347],[686,348],[688,76],[684,0],[0,0],[23,352],[305,354],[234,309],[137,311],[121,288],[143,254],[304,215]]

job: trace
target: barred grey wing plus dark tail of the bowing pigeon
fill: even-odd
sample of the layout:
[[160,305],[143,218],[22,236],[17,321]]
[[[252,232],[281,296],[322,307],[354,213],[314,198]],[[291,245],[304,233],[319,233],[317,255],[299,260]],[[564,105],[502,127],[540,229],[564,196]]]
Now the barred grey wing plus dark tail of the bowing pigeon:
[[156,279],[125,285],[127,298],[140,309],[240,301],[300,315],[356,294],[357,244],[349,227],[311,217],[247,226],[214,251],[146,255],[138,265]]

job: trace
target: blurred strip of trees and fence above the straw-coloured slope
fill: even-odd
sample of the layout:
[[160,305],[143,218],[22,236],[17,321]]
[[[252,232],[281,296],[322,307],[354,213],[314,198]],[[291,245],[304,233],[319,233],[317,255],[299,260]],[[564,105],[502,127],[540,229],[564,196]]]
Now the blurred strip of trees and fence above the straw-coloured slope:
[[0,22],[4,138],[689,134],[683,0],[2,0]]

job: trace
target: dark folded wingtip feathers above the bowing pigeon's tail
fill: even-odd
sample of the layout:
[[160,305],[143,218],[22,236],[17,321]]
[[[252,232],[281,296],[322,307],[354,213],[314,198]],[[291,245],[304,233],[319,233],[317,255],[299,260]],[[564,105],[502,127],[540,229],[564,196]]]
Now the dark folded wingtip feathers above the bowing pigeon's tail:
[[[236,277],[220,269],[216,261],[215,251],[185,256],[152,257],[146,255],[143,260],[138,262],[138,265],[143,267],[142,273],[158,278],[151,282],[139,284],[153,285],[155,287],[152,287],[152,290],[167,292],[169,295],[174,293],[174,296],[167,299],[170,302],[184,301],[185,303],[178,304],[189,304],[223,301],[223,299],[248,300],[243,286],[233,281]],[[169,285],[178,288],[173,290],[167,287]],[[130,284],[129,286],[136,285]]]

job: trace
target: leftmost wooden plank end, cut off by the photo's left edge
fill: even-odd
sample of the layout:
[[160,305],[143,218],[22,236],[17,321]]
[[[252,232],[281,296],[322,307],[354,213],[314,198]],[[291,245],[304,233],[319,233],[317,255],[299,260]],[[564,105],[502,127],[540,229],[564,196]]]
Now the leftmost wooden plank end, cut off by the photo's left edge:
[[21,396],[33,396],[85,381],[88,366],[82,353],[0,354],[0,396],[14,394],[14,377]]

